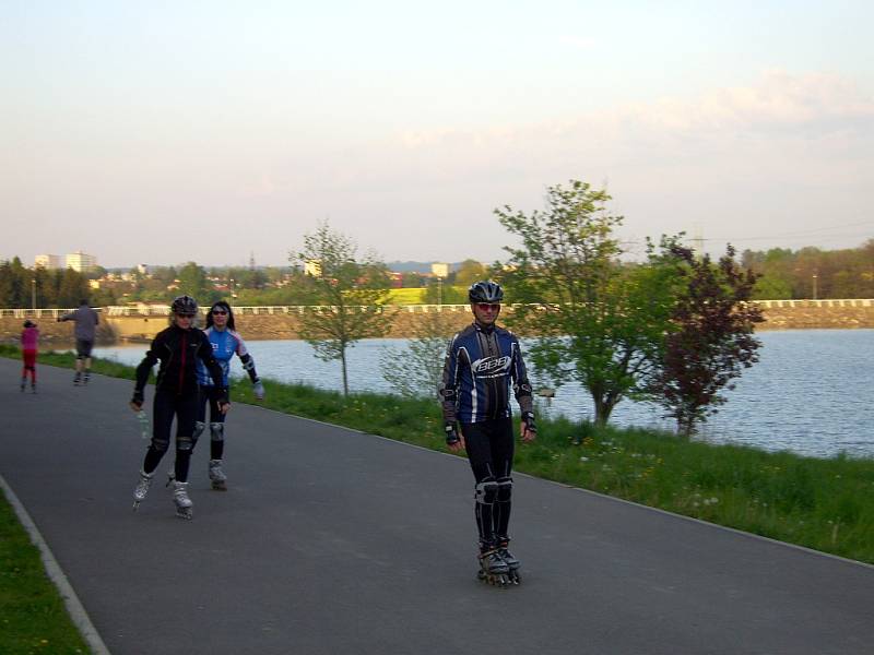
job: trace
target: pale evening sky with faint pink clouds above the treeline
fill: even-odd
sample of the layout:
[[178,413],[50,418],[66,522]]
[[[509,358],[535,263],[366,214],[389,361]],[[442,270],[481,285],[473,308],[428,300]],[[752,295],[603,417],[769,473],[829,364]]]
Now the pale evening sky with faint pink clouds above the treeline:
[[507,259],[606,188],[631,257],[874,238],[874,3],[0,2],[0,259]]

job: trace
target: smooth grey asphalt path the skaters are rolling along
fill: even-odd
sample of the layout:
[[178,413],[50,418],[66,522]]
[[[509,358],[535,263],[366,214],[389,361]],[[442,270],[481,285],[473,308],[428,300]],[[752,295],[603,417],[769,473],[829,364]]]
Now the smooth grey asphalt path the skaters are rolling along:
[[874,568],[518,474],[523,580],[491,587],[464,460],[256,406],[228,415],[227,492],[206,436],[194,519],[161,483],[134,513],[132,383],[19,371],[0,475],[114,655],[874,652]]

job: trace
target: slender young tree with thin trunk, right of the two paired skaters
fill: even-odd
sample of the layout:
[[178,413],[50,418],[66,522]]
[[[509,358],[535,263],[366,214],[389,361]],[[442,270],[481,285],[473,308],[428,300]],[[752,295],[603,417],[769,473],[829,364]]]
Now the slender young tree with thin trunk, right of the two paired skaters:
[[362,338],[385,336],[389,329],[382,306],[388,299],[386,264],[376,255],[356,259],[357,247],[327,222],[304,236],[304,248],[290,259],[309,267],[302,286],[309,306],[300,314],[302,336],[323,361],[339,359],[343,393],[349,394],[346,350]]

